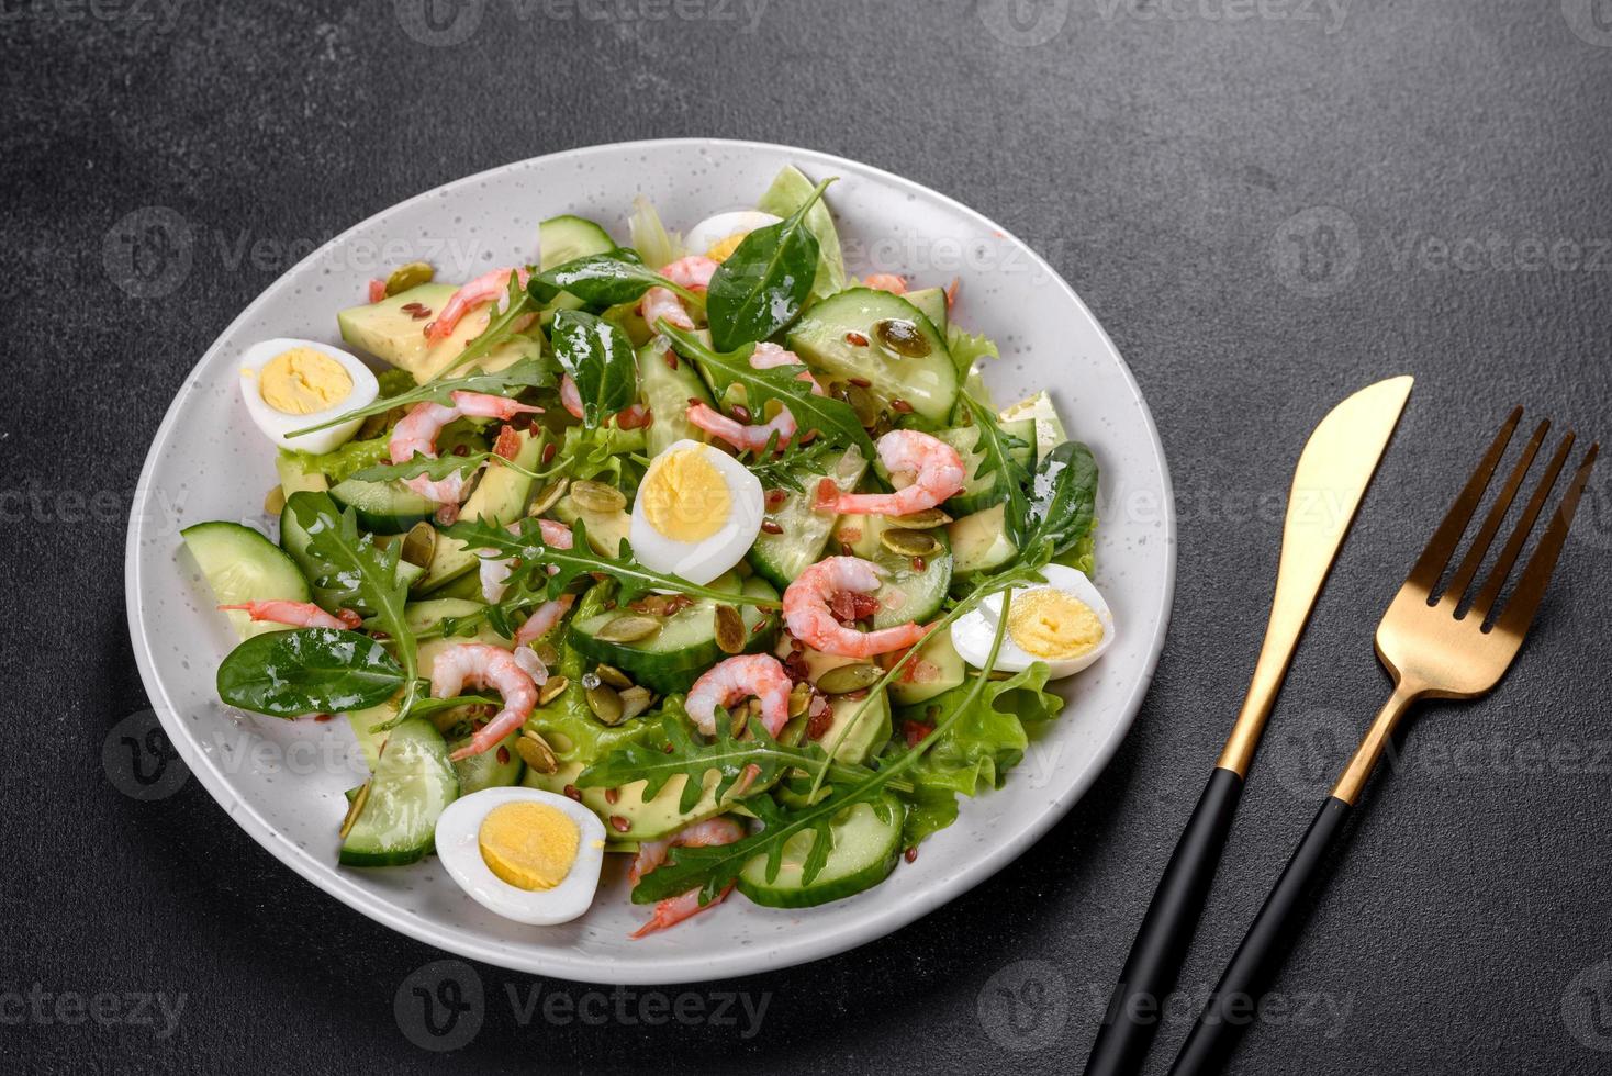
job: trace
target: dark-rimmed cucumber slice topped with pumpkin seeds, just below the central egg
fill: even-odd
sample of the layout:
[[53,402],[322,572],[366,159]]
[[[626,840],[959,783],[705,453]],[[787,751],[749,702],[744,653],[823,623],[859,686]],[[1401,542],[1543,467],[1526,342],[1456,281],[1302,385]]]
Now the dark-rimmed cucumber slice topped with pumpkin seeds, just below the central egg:
[[[724,575],[711,583],[717,590],[740,591],[737,575]],[[608,594],[604,586],[588,591],[582,607],[571,620],[571,646],[592,662],[604,662],[622,670],[635,683],[663,694],[688,691],[700,673],[717,664],[727,654],[716,644],[716,606],[713,599],[696,601],[682,612],[667,617],[659,633],[638,643],[606,643],[598,638],[606,623],[624,615],[622,609],[603,609]],[[777,598],[779,591],[759,577],[743,583],[743,593],[758,598]],[[740,606],[745,622],[745,651],[772,649],[779,631],[777,614],[754,606]]]

